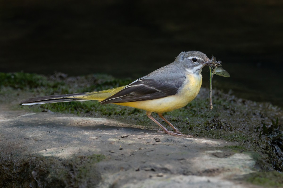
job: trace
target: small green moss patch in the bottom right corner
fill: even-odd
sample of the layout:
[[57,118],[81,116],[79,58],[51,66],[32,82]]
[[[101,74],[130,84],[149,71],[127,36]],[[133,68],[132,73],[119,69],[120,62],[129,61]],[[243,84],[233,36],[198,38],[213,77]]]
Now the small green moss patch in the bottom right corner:
[[283,187],[283,174],[277,171],[252,173],[245,180],[263,187]]

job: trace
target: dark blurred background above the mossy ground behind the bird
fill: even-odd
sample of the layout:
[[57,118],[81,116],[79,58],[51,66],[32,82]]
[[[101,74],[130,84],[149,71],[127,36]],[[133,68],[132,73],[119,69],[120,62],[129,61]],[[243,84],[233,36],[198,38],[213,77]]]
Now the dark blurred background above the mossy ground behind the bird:
[[279,0],[0,0],[0,72],[135,80],[199,50],[231,75],[214,76],[214,89],[283,107],[282,10]]

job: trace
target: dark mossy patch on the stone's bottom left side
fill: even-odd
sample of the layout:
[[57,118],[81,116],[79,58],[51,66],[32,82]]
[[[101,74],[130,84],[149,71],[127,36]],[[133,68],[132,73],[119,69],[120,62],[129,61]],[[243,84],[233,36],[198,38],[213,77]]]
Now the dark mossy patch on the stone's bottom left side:
[[[95,187],[101,180],[95,163],[105,156],[4,156],[0,154],[1,187]],[[13,181],[9,181],[13,180]]]

